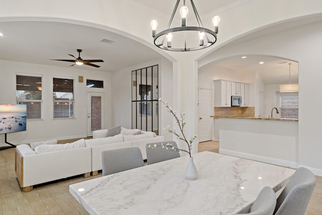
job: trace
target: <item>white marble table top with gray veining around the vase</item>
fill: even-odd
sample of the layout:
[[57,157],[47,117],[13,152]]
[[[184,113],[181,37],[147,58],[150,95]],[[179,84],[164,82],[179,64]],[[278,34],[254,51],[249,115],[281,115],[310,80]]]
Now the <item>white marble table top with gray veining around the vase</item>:
[[185,179],[185,156],[72,184],[69,192],[90,214],[234,214],[249,210],[263,187],[276,192],[294,173],[211,152],[193,157],[196,180]]

